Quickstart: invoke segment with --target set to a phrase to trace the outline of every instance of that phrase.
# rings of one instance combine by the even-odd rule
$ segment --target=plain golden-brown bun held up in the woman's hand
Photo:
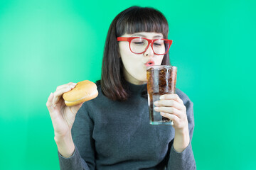
[[[78,82],[74,89],[63,94],[66,106],[75,106],[97,97],[98,91],[95,83],[89,80]]]

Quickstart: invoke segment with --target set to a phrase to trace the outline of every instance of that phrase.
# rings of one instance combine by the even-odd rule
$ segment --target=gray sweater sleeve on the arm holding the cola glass
[[[180,98],[183,100],[184,105],[186,106],[186,114],[188,118],[188,130],[189,130],[189,137],[190,142],[188,147],[183,150],[183,152],[177,152],[174,149],[174,141],[172,140],[171,144],[171,152],[169,154],[169,162],[167,165],[168,170],[194,170],[196,169],[196,161],[193,156],[193,150],[191,146],[191,141],[193,137],[193,129],[194,129],[194,116],[193,116],[193,102],[190,101],[186,94],[181,92]]]

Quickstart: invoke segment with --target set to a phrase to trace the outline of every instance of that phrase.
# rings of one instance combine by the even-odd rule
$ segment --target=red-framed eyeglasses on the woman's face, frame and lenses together
[[[149,48],[151,44],[152,50],[155,55],[165,55],[170,47],[172,40],[167,39],[147,39],[142,37],[118,37],[117,41],[128,41],[129,42],[129,49],[131,52],[140,55]]]

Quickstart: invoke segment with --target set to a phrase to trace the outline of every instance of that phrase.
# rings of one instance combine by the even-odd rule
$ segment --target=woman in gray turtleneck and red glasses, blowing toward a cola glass
[[[176,94],[163,95],[155,103],[173,126],[149,125],[146,64],[170,65],[169,47],[161,49],[163,55],[155,44],[167,39],[168,31],[166,18],[156,9],[127,8],[107,33],[97,98],[65,106],[61,96],[74,83],[50,94],[46,106],[60,169],[196,169],[193,103],[186,94],[176,88]],[[147,45],[137,48],[142,42]]]

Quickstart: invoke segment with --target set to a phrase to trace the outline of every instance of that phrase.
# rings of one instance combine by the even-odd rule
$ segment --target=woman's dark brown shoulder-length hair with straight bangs
[[[155,8],[132,6],[119,13],[110,25],[102,61],[102,93],[113,101],[126,101],[129,88],[123,76],[123,63],[119,54],[117,37],[138,32],[162,33],[167,39],[169,26],[164,15]],[[170,65],[169,53],[161,65]],[[142,93],[146,97],[146,91]]]

